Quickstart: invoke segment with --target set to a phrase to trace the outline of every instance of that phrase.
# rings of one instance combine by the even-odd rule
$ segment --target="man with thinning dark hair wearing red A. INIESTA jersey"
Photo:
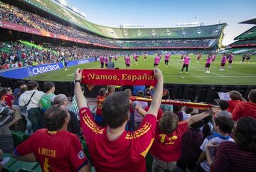
[[[43,122],[46,129],[38,129],[16,147],[12,156],[21,161],[38,161],[43,171],[90,171],[78,136],[67,130],[70,114],[57,104],[46,110]]]

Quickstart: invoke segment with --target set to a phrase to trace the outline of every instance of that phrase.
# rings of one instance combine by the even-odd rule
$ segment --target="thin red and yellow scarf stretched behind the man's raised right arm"
[[[130,97],[130,100],[132,101],[143,101],[143,102],[151,102],[152,99],[144,98],[144,97],[136,97],[132,96]],[[161,104],[172,104],[177,106],[183,106],[183,107],[193,107],[196,109],[207,109],[209,107],[213,107],[212,104],[203,104],[203,103],[194,103],[194,102],[181,102],[178,100],[161,100]]]

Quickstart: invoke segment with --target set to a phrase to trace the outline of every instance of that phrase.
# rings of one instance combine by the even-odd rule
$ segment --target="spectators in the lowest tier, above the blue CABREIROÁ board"
[[[114,52],[114,53],[113,53]],[[197,53],[196,50],[169,50],[171,54]],[[0,69],[19,68],[28,65],[58,63],[62,60],[78,60],[116,55],[153,55],[163,50],[107,50],[97,48],[68,47],[63,45],[26,45],[21,41],[0,41]]]

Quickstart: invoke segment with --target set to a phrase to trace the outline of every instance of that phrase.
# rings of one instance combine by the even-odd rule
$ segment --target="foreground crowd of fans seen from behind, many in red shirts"
[[[210,109],[180,107],[161,104],[170,92],[164,89],[161,70],[154,75],[154,88],[102,87],[96,111],[87,102],[79,70],[72,102],[54,94],[53,82],[45,82],[42,92],[36,81],[17,81],[14,92],[1,92],[0,113],[12,110],[14,117],[0,123],[0,149],[22,161],[38,161],[41,168],[47,158],[55,171],[89,171],[90,163],[96,171],[145,171],[146,154],[154,158],[151,171],[256,171],[255,89],[248,102],[231,91],[230,100],[216,100]],[[132,102],[132,95],[152,101]],[[14,149],[10,128],[31,136]]]

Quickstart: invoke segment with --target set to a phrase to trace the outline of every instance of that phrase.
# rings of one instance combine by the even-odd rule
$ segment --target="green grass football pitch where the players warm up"
[[[132,55],[131,55],[132,56]],[[185,69],[183,74],[180,74],[183,65],[181,55],[171,55],[169,67],[164,65],[164,58],[161,59],[159,69],[163,71],[164,82],[172,84],[196,84],[196,85],[256,85],[256,56],[252,55],[249,63],[240,63],[241,55],[235,55],[232,68],[227,68],[225,65],[224,71],[219,71],[221,55],[217,55],[215,62],[210,65],[210,74],[205,74],[206,55],[203,55],[200,63],[196,63],[197,55],[189,55],[191,64],[188,68],[188,74]],[[131,69],[153,69],[155,55],[148,55],[146,61],[144,56],[140,55],[138,64],[135,65],[132,59]],[[132,58],[132,57],[131,57]],[[119,57],[114,61],[117,68],[125,69],[124,58]],[[33,77],[27,77],[28,80],[43,80],[43,81],[73,81],[76,68],[100,68],[100,62],[85,63],[68,68],[67,75],[63,69],[53,72],[46,72]]]

